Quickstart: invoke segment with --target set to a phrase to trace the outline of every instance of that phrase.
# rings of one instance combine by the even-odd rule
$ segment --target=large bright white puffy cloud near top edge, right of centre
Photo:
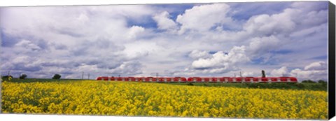
[[[231,22],[227,17],[230,6],[225,3],[214,3],[209,5],[194,6],[185,11],[183,15],[178,15],[176,22],[181,24],[180,34],[185,31],[208,31],[216,24]]]

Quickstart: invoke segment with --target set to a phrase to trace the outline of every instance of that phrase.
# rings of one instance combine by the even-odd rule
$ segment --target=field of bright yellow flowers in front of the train
[[[2,83],[3,113],[327,119],[323,91],[97,80]]]

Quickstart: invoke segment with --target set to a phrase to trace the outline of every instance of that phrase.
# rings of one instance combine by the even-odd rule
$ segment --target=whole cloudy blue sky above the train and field
[[[1,75],[328,80],[328,1],[1,7]]]

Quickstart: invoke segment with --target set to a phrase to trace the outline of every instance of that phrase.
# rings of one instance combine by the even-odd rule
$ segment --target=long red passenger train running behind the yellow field
[[[158,82],[158,83],[297,83],[294,77],[107,77],[99,76],[97,80]]]

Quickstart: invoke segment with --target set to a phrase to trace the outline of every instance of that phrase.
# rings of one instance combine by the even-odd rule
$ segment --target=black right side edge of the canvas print
[[[335,117],[335,5],[328,3],[328,119]]]

